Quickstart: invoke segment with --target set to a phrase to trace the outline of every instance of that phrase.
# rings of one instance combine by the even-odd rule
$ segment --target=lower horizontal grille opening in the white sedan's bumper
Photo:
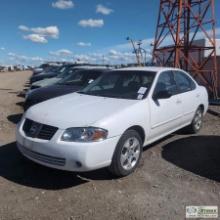
[[[20,151],[26,155],[27,157],[33,158],[35,160],[38,160],[43,163],[55,165],[55,166],[65,166],[66,160],[64,158],[60,157],[52,157],[49,155],[37,153],[35,151],[29,150],[26,147],[20,146],[19,145]]]

